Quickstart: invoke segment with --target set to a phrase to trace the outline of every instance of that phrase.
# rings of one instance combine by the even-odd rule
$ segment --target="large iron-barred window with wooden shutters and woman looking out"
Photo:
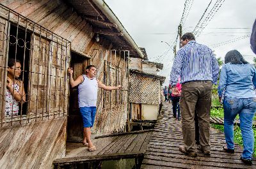
[[[67,115],[70,41],[15,11],[0,10],[1,126]]]

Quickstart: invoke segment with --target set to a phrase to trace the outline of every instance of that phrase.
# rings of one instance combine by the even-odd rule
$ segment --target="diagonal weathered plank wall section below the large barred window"
[[[0,129],[0,168],[52,168],[65,156],[67,117]]]

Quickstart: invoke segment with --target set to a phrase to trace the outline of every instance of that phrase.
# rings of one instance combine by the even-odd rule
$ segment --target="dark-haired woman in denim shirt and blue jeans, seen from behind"
[[[224,96],[224,133],[227,145],[225,152],[234,153],[234,120],[239,115],[243,137],[243,154],[241,160],[252,165],[253,154],[253,117],[256,111],[256,70],[252,64],[244,61],[237,50],[225,55],[225,64],[221,68],[218,94]]]

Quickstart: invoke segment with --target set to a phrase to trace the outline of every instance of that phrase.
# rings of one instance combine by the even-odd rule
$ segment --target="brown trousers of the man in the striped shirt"
[[[186,82],[182,85],[180,113],[184,147],[188,152],[196,152],[195,110],[198,114],[200,145],[204,151],[210,151],[211,95],[211,81]]]

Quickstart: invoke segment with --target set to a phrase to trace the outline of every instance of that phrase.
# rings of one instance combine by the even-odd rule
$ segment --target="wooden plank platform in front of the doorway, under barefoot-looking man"
[[[82,143],[67,143],[65,158],[56,159],[56,168],[65,168],[70,164],[104,161],[121,158],[143,158],[153,130],[133,131],[95,137],[93,143],[96,151],[89,152]]]

